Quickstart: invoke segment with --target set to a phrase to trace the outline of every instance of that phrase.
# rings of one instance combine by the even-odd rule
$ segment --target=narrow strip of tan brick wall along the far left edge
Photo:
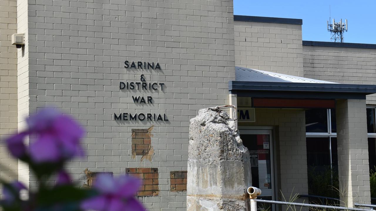
[[[11,35],[17,33],[16,3],[0,1],[0,140],[17,132],[17,48],[11,43]],[[17,179],[17,160],[12,159],[3,142],[0,170],[2,180]]]

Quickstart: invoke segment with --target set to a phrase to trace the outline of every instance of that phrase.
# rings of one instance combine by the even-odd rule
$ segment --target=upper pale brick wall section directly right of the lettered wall
[[[303,77],[302,26],[235,21],[235,65]]]

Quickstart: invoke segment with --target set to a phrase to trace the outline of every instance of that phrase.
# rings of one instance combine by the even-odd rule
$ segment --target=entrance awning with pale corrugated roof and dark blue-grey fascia
[[[375,85],[340,84],[311,78],[235,67],[229,91],[239,97],[299,99],[365,99]]]

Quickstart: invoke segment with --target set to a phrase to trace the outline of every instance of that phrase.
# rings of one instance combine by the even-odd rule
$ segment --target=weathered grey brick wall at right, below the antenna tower
[[[303,46],[304,77],[346,84],[376,84],[376,49]],[[376,95],[367,96],[376,104]]]

